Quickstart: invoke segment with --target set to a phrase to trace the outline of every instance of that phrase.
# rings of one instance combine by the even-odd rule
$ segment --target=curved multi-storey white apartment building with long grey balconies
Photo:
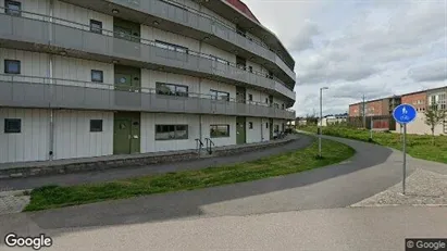
[[[0,0],[0,163],[273,140],[295,62],[232,0]]]

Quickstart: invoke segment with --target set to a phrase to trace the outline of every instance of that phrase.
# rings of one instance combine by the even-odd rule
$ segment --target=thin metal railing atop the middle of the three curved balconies
[[[0,10],[4,11],[7,9],[0,8]],[[8,14],[4,14],[4,13],[1,13],[1,14],[2,15],[8,15]],[[286,97],[291,98],[291,99],[295,100],[295,91],[290,90],[289,87],[287,87],[287,85],[285,85],[278,78],[269,75],[269,73],[250,70],[247,66],[237,65],[236,63],[225,61],[225,60],[220,59],[219,57],[215,57],[215,55],[212,55],[212,54],[207,54],[207,53],[189,50],[187,48],[166,47],[165,45],[157,42],[154,40],[144,39],[144,38],[132,36],[132,35],[123,36],[123,34],[117,33],[117,32],[108,30],[108,29],[98,29],[96,27],[91,28],[89,25],[85,25],[85,24],[80,24],[80,23],[76,23],[76,22],[72,22],[72,21],[67,21],[67,20],[62,20],[62,18],[59,18],[59,17],[42,15],[42,14],[38,14],[38,13],[20,11],[20,15],[23,18],[38,20],[38,21],[41,21],[41,22],[58,24],[58,25],[61,25],[61,26],[66,26],[66,27],[71,27],[71,28],[75,28],[75,29],[79,29],[79,30],[84,30],[84,32],[88,32],[88,33],[99,34],[99,35],[108,36],[108,37],[113,37],[113,38],[116,38],[116,39],[138,42],[140,45],[150,46],[150,47],[158,48],[158,49],[161,49],[161,50],[172,51],[172,52],[175,52],[175,53],[181,53],[181,54],[184,54],[184,57],[186,57],[186,55],[198,57],[200,59],[211,61],[213,64],[216,64],[216,67],[220,68],[220,70],[225,70],[225,68],[229,67],[231,72],[244,71],[244,72],[248,73],[249,75],[272,79],[275,83],[277,83],[277,84],[280,84],[284,87],[284,88],[282,88],[284,91],[281,91],[280,93],[283,93]],[[225,75],[225,73],[224,73],[224,75]],[[250,83],[248,83],[248,84],[250,84]],[[291,91],[294,93],[293,97],[290,97],[290,95],[286,95],[285,91]]]

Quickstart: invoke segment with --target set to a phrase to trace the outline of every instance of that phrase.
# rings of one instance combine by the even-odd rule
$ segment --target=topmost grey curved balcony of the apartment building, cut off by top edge
[[[291,88],[295,86],[296,74],[293,70],[295,63],[285,63],[286,60],[270,50],[265,45],[258,42],[257,39],[241,36],[233,27],[187,5],[177,2],[171,3],[172,1],[169,0],[63,1],[107,14],[110,14],[112,9],[120,9],[119,16],[122,18],[149,26],[153,26],[153,22],[157,21],[157,28],[167,32],[176,30],[178,34],[198,40],[208,37],[207,43],[232,52],[237,50],[239,55],[247,59],[253,57],[254,62],[265,64],[284,83],[290,85]]]

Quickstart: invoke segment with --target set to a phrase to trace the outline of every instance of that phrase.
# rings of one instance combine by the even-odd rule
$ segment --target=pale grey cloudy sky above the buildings
[[[447,0],[244,0],[295,59],[297,116],[447,86]]]

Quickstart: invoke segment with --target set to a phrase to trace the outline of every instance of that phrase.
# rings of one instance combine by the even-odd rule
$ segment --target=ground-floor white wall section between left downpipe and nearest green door
[[[102,131],[90,131],[102,120]],[[113,154],[113,112],[60,110],[54,113],[54,159]]]

